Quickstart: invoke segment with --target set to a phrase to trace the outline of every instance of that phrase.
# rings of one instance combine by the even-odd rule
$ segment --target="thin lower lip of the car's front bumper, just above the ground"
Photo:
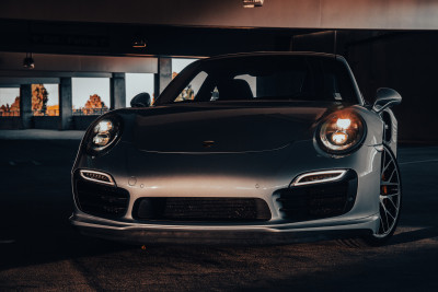
[[[187,226],[128,223],[73,214],[70,222],[83,235],[130,244],[270,245],[368,235],[379,224],[379,217],[337,222]]]

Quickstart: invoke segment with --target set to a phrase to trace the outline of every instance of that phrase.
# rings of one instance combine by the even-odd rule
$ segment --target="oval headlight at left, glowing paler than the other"
[[[87,152],[91,155],[106,153],[120,137],[120,130],[122,119],[116,115],[97,119],[87,132]]]

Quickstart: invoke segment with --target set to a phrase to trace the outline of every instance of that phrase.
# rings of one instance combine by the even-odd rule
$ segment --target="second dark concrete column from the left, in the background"
[[[59,83],[59,130],[73,128],[71,78],[61,78]]]

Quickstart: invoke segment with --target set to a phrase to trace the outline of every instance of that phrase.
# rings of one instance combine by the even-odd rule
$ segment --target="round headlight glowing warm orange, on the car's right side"
[[[353,151],[365,139],[365,121],[350,110],[330,115],[319,127],[316,140],[328,153],[343,154]]]

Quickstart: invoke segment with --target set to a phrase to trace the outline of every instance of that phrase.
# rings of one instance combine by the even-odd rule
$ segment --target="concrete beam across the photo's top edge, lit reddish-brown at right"
[[[0,19],[214,27],[438,30],[434,0],[2,0]]]

